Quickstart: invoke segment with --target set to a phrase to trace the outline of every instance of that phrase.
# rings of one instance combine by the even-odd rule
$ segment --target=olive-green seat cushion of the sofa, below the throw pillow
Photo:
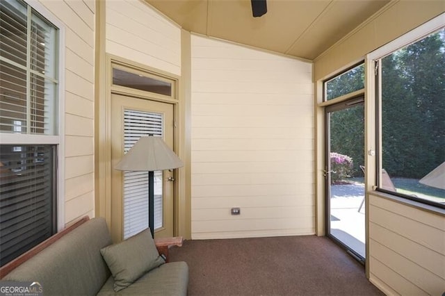
[[[154,268],[143,277],[132,283],[128,288],[114,291],[114,279],[110,277],[97,294],[106,295],[187,295],[188,265],[185,262],[165,263]]]

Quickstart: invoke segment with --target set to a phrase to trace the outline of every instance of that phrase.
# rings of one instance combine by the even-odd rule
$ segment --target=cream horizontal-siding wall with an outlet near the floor
[[[312,65],[197,35],[191,56],[192,238],[314,233]]]

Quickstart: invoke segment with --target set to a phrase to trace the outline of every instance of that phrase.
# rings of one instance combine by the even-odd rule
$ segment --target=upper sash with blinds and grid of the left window
[[[57,35],[26,3],[0,1],[1,133],[56,135]]]

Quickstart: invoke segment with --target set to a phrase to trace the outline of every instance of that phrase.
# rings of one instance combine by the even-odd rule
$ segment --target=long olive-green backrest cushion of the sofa
[[[38,281],[44,295],[96,295],[111,273],[100,249],[111,244],[104,218],[94,218],[19,265],[2,281]]]

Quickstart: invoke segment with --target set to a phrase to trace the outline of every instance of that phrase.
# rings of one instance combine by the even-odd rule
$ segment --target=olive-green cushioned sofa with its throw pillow
[[[43,295],[187,294],[187,264],[165,263],[149,229],[113,245],[96,217],[56,236],[3,269],[1,281],[38,282]]]

